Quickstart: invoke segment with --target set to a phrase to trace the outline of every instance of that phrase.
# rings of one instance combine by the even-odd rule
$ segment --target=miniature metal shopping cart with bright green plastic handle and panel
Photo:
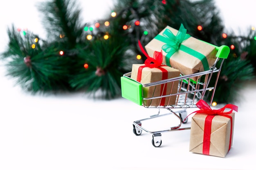
[[[196,102],[200,99],[204,99],[204,96],[207,91],[210,91],[210,101],[209,105],[212,104],[213,102],[213,96],[214,92],[216,90],[216,85],[218,82],[218,78],[220,76],[220,70],[222,68],[222,64],[225,59],[227,59],[230,49],[228,46],[215,46],[217,49],[217,54],[216,54],[216,61],[214,65],[210,68],[210,70],[203,71],[203,72],[198,72],[190,75],[180,75],[179,77],[175,78],[170,78],[162,81],[157,81],[153,83],[147,83],[147,84],[142,84],[139,83],[138,81],[135,81],[130,78],[131,72],[128,72],[124,74],[121,77],[121,93],[122,97],[137,103],[138,105],[142,105],[146,108],[158,108],[159,111],[157,114],[152,115],[148,118],[141,119],[141,120],[136,120],[133,122],[133,133],[135,135],[140,135],[142,131],[146,131],[147,133],[152,134],[153,139],[152,139],[152,144],[155,147],[159,147],[162,144],[162,134],[165,132],[169,131],[178,131],[178,130],[185,130],[185,129],[190,129],[191,127],[181,127],[182,123],[186,123],[188,119],[185,119],[187,116],[187,108],[196,108],[197,106],[195,105]],[[216,68],[218,63],[218,68]],[[214,75],[214,76],[213,76]],[[216,80],[211,80],[211,78],[216,78]],[[196,81],[194,81],[196,78]],[[209,87],[210,81],[213,82],[213,87]],[[177,93],[171,92],[170,94],[164,94],[164,95],[155,95],[150,97],[144,97],[143,94],[143,89],[147,87],[153,87],[156,88],[159,85],[173,85],[175,82],[178,82],[178,89]],[[172,87],[171,87],[172,88]],[[166,105],[162,106],[159,105],[146,105],[146,101],[150,100],[153,101],[153,99],[157,98],[170,98],[171,96],[176,96],[175,104],[173,105]],[[160,114],[160,109],[167,109],[168,113]],[[175,110],[175,111],[174,111]],[[177,111],[176,111],[177,110]],[[172,126],[168,129],[160,130],[160,131],[149,131],[145,127],[142,126],[142,122],[145,120],[150,120],[162,116],[168,116],[168,115],[174,115],[178,120],[178,124],[175,126]]]

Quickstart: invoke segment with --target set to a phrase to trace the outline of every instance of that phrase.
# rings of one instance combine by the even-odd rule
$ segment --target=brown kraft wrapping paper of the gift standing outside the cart
[[[229,114],[233,119],[233,133],[231,137],[231,146],[234,134],[235,113]],[[189,151],[193,153],[203,153],[204,121],[207,114],[196,113],[191,120]],[[231,120],[225,116],[214,116],[211,124],[211,139],[209,155],[225,157],[229,151],[229,140],[231,133]]]

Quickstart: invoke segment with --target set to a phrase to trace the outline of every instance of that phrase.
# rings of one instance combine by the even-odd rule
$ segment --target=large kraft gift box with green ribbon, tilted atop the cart
[[[216,47],[186,34],[183,25],[179,31],[166,26],[145,48],[149,56],[162,49],[163,63],[184,75],[209,70],[216,61]]]

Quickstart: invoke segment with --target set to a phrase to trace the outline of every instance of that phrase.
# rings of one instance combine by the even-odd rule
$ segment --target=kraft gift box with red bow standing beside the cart
[[[189,151],[225,157],[233,143],[234,111],[238,107],[228,104],[225,107],[212,110],[204,100],[196,104],[200,110],[195,111],[191,120]],[[224,112],[225,109],[231,109]]]

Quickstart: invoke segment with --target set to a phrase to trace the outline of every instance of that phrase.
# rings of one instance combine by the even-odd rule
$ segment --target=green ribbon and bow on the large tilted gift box
[[[176,36],[169,29],[166,29],[163,35],[164,36],[157,35],[155,39],[166,43],[162,46],[162,50],[164,50],[164,52],[167,53],[165,57],[166,65],[171,67],[171,56],[178,50],[182,50],[192,55],[193,57],[200,59],[204,67],[204,70],[209,70],[207,58],[203,54],[181,44],[183,41],[191,37],[189,34],[186,33],[186,29],[184,28],[183,24],[181,24],[180,29]]]

